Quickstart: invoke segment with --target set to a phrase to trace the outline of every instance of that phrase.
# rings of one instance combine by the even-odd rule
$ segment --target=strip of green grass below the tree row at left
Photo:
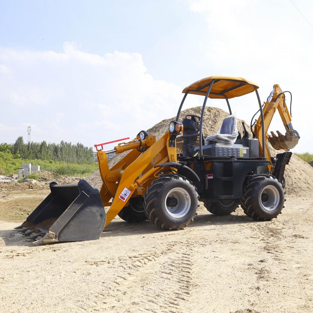
[[[54,172],[59,175],[85,177],[98,169],[98,163],[95,164],[71,164],[52,160],[27,160],[14,159],[11,154],[0,152],[0,168],[3,175],[17,174],[21,163],[32,163],[32,165],[40,165],[40,170]],[[33,177],[29,177],[33,178]],[[37,178],[34,178],[37,179]]]

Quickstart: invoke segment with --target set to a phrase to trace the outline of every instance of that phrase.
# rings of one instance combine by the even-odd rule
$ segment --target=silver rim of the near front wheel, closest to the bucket
[[[173,188],[167,193],[164,205],[170,216],[174,218],[184,217],[191,207],[190,195],[184,188]]]

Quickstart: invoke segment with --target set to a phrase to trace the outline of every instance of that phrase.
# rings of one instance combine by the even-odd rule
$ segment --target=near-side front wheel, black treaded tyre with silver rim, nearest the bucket
[[[149,220],[161,229],[180,229],[193,222],[199,207],[197,189],[180,175],[162,175],[144,196]]]

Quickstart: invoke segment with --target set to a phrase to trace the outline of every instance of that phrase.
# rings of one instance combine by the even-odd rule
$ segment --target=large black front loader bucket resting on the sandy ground
[[[99,239],[106,215],[98,189],[85,180],[50,183],[51,193],[17,229],[36,243]]]

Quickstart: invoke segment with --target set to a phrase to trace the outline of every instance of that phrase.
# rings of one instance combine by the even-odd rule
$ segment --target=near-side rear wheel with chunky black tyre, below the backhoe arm
[[[247,182],[241,207],[256,221],[270,221],[281,213],[284,202],[285,192],[281,183],[275,177],[260,175]]]

